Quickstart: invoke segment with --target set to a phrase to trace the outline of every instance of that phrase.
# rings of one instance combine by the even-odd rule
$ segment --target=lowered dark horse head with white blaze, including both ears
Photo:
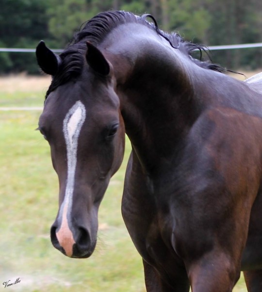
[[[89,42],[86,54],[78,56],[83,63],[78,74],[66,56],[55,55],[43,41],[36,56],[40,68],[53,75],[39,119],[60,185],[51,241],[66,256],[84,258],[95,249],[98,207],[124,155],[125,130],[114,73]]]

